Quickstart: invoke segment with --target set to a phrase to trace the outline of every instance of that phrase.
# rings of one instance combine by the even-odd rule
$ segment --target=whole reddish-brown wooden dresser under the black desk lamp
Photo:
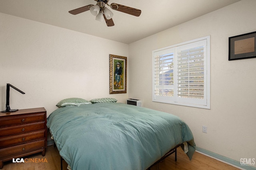
[[[0,113],[0,169],[4,161],[42,152],[47,146],[44,107]]]

